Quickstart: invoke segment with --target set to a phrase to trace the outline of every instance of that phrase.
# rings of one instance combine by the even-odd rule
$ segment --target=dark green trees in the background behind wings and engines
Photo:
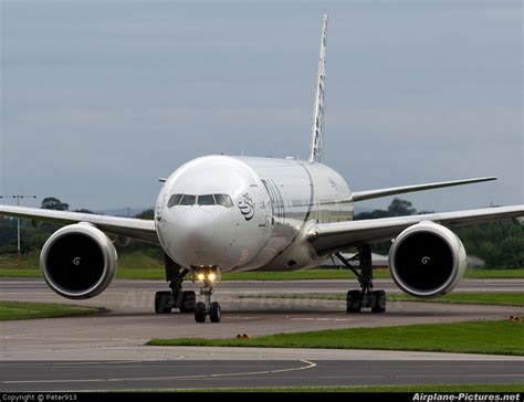
[[[42,200],[41,208],[49,210],[69,211],[70,205],[56,198],[50,197]],[[90,210],[80,209],[74,212],[92,213]],[[355,215],[355,220],[378,219],[389,216],[413,215],[431,211],[417,211],[411,202],[394,199],[386,210],[374,210]],[[145,210],[135,218],[151,220],[153,210]],[[36,223],[21,221],[21,250],[22,253],[40,250],[48,237],[59,229],[51,223]],[[515,220],[502,220],[492,223],[472,224],[452,229],[462,240],[468,255],[482,258],[488,267],[524,267],[524,225]],[[387,254],[390,242],[374,245],[374,251]],[[132,241],[126,247],[117,245],[119,253],[143,252],[148,255],[161,257],[159,246]],[[17,253],[17,220],[0,219],[0,254]]]

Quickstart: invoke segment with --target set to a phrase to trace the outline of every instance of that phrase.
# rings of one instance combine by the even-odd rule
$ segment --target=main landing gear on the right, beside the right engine
[[[371,313],[386,311],[386,292],[373,289],[373,266],[371,266],[371,246],[363,244],[358,247],[358,254],[349,260],[335,253],[344,265],[346,265],[358,278],[360,290],[349,290],[346,299],[347,313],[360,313],[363,308],[370,308]],[[358,260],[358,271],[349,262]]]

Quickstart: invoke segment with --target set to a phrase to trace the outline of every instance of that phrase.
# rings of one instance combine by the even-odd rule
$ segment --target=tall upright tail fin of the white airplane
[[[311,131],[308,162],[324,160],[324,91],[326,88],[326,45],[327,14],[322,21],[321,49],[318,52],[318,73],[316,77],[315,106],[313,108],[313,127]]]

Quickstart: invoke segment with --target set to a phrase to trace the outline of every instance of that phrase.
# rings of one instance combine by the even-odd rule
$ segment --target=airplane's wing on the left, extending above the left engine
[[[52,222],[57,224],[88,222],[107,234],[115,234],[158,244],[158,236],[155,230],[154,221],[10,205],[0,205],[0,216],[2,215]]]

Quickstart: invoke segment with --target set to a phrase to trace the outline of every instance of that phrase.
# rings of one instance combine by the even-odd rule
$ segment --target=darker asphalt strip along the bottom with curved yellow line
[[[0,364],[3,391],[518,383],[522,361],[25,361]],[[248,385],[249,384],[249,385]]]

